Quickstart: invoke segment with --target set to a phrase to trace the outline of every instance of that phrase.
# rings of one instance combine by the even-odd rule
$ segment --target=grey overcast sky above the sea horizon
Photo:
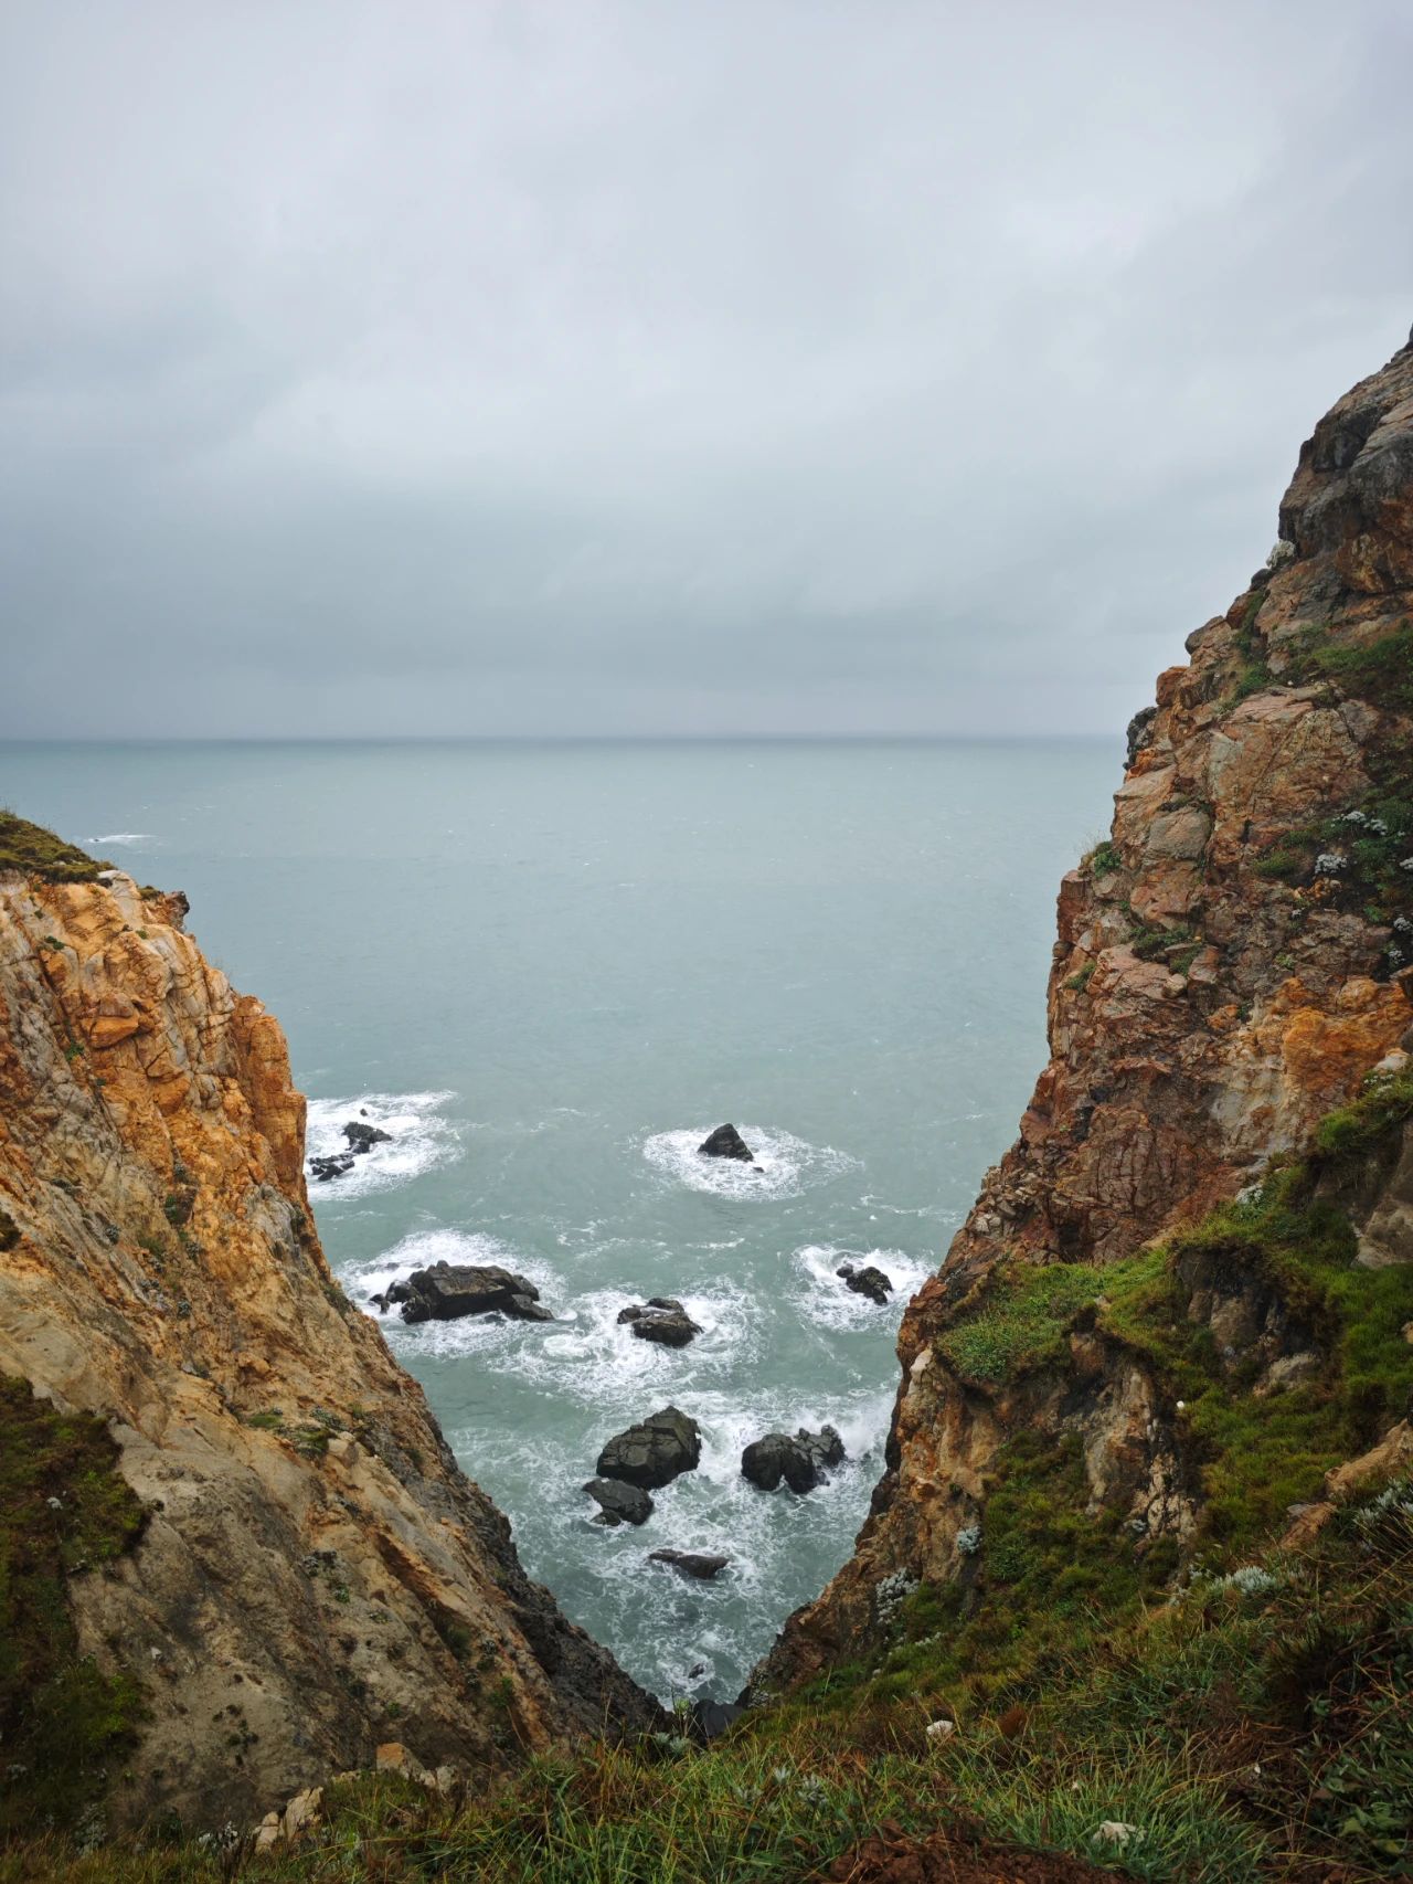
[[[1405,0],[0,19],[0,737],[1113,733],[1413,320]]]

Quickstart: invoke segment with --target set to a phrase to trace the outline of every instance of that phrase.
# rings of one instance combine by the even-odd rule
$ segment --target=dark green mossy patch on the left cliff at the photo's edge
[[[100,1421],[0,1375],[0,1837],[72,1824],[141,1718],[136,1682],[79,1656],[66,1588],[141,1534],[115,1460]]]

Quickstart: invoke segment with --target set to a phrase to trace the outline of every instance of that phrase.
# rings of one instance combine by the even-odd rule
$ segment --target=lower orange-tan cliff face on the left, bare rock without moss
[[[0,869],[0,1375],[107,1422],[147,1513],[68,1575],[138,1694],[111,1811],[243,1822],[384,1739],[494,1771],[656,1720],[343,1298],[281,1029],[183,914]],[[60,1541],[79,1503],[47,1502]]]

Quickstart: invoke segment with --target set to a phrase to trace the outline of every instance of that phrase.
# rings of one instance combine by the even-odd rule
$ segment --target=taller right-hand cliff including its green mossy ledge
[[[1347,1272],[1413,1255],[1413,347],[1321,420],[1279,537],[1130,727],[1112,838],[1061,885],[1049,1064],[904,1319],[855,1556],[757,1692],[855,1656],[899,1590],[959,1584],[953,1622],[1014,1594],[987,1513],[1042,1466],[1157,1584],[1242,1534],[1234,1434],[1304,1421],[1287,1449],[1319,1486],[1404,1411],[1413,1304],[1372,1281],[1375,1313]],[[1373,1098],[1330,1121],[1373,1068]],[[1355,1366],[1360,1315],[1387,1341]]]

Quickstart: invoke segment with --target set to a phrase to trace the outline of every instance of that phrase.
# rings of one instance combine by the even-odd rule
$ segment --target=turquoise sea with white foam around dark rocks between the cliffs
[[[384,1330],[531,1573],[673,1697],[735,1694],[850,1551],[902,1298],[1014,1138],[1055,889],[1117,771],[1091,742],[8,746],[0,801],[187,889],[288,1031],[311,1151],[360,1108],[394,1134],[313,1187],[354,1300],[441,1255],[539,1283],[554,1324]],[[723,1119],[763,1176],[695,1157]],[[646,1294],[703,1336],[635,1341]],[[599,1445],[669,1402],[701,1470],[590,1524]],[[829,1486],[739,1477],[821,1421]],[[733,1564],[688,1584],[661,1545]]]

